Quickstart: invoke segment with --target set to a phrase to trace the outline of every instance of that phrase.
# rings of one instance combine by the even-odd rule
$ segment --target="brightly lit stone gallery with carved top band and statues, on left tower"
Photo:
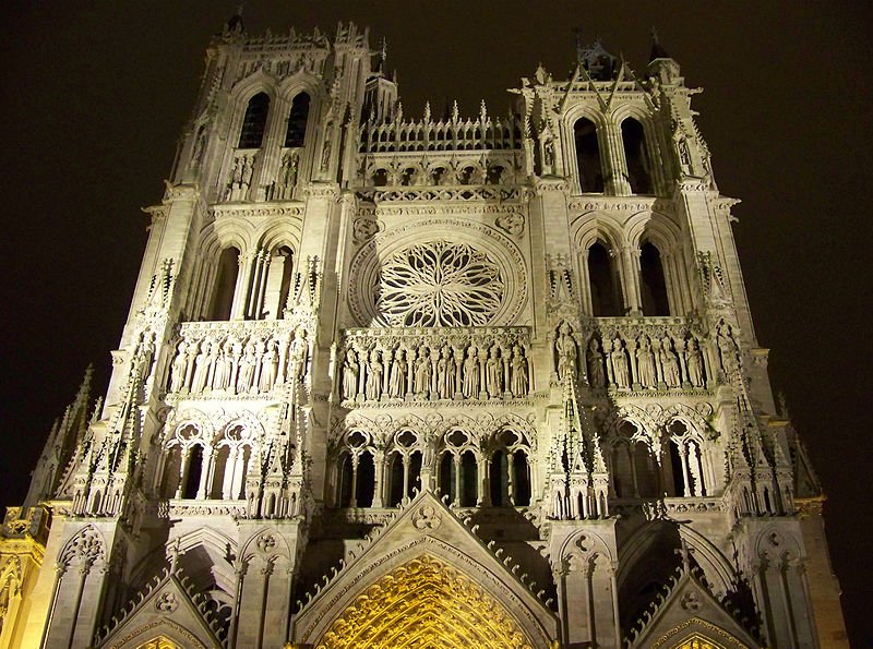
[[[309,341],[284,320],[188,322],[179,327],[170,364],[169,394],[265,395],[299,381]]]

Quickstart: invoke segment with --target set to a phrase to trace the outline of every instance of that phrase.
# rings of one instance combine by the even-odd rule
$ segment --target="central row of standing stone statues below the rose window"
[[[529,372],[518,342],[352,346],[343,357],[342,396],[348,401],[522,398],[530,389]]]

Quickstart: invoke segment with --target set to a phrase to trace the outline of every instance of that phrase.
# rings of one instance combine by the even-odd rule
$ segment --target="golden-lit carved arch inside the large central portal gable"
[[[504,608],[435,558],[414,558],[334,620],[318,649],[533,649]]]

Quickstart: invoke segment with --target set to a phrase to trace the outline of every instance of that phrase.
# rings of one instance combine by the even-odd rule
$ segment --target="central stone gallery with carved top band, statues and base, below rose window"
[[[528,327],[346,329],[339,394],[348,405],[527,398]]]

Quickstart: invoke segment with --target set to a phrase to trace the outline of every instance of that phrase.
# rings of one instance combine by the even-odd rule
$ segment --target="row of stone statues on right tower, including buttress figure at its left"
[[[736,347],[734,347],[736,348]],[[560,380],[575,380],[579,366],[577,341],[566,323],[559,327],[554,340],[555,366]],[[588,341],[585,375],[591,387],[623,389],[665,389],[703,387],[707,368],[699,341],[694,336],[636,336],[615,334],[602,342]]]

